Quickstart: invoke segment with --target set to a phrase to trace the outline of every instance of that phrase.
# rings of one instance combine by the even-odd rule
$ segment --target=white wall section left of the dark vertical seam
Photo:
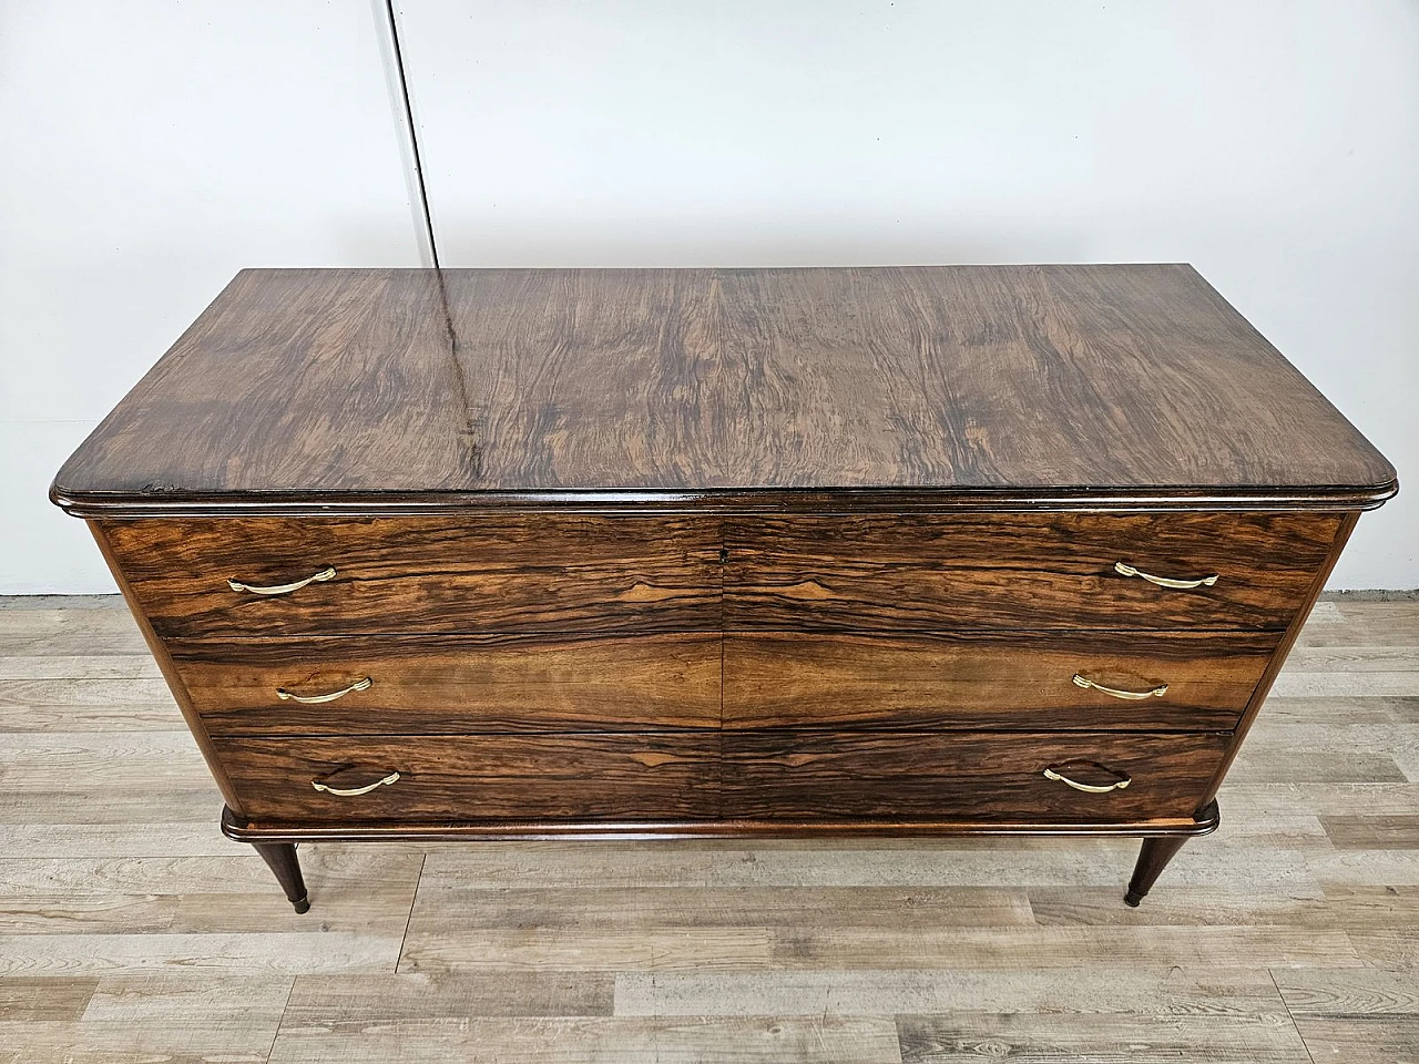
[[[114,590],[45,498],[247,265],[419,265],[368,3],[0,4],[0,593]]]

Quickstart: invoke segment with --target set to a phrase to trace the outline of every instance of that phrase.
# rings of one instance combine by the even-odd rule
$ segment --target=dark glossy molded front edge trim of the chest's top
[[[1121,488],[1081,491],[535,491],[535,492],[341,492],[304,494],[125,494],[71,492],[58,481],[50,501],[79,518],[219,518],[219,516],[423,516],[468,509],[566,509],[572,512],[678,512],[697,509],[793,514],[858,514],[863,511],[1087,511],[1124,514],[1174,509],[1375,509],[1399,491],[1399,481],[1372,487],[1297,487],[1284,489],[1145,491]]]

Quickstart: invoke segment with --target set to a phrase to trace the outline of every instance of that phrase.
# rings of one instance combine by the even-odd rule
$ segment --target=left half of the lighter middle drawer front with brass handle
[[[719,726],[714,634],[175,640],[167,648],[213,735]]]

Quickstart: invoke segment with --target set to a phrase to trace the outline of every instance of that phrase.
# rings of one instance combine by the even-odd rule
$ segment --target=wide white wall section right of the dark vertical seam
[[[1412,0],[410,0],[444,265],[1189,261],[1419,470]],[[1337,587],[1419,586],[1419,482]]]

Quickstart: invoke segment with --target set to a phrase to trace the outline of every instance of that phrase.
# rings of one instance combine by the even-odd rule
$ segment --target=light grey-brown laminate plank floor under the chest
[[[0,600],[0,1063],[1419,1061],[1419,602],[1325,600],[1142,908],[1137,843],[301,847],[115,600]]]

